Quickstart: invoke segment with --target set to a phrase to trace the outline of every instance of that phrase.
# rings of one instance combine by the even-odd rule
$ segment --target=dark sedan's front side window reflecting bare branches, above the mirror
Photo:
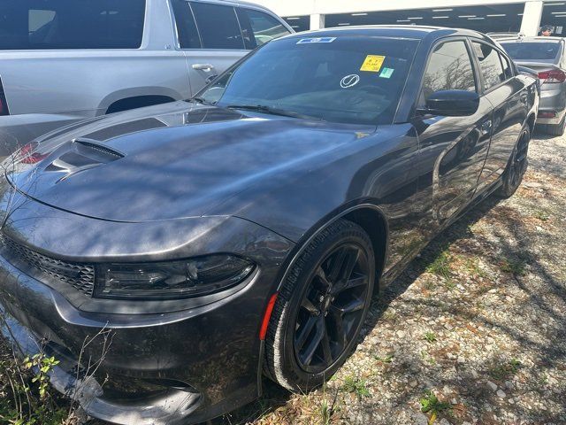
[[[463,41],[443,42],[432,51],[424,73],[421,104],[440,90],[476,91],[470,53]]]

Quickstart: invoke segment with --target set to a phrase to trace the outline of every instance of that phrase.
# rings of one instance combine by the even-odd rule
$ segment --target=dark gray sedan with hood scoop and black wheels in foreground
[[[433,236],[515,192],[538,104],[476,32],[351,27],[47,135],[4,162],[4,336],[114,423],[204,421],[264,375],[310,390]]]

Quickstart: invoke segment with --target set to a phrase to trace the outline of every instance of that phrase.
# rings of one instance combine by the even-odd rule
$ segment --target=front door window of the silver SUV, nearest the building
[[[265,42],[289,34],[279,20],[264,12],[239,7],[238,19],[241,25],[241,34],[244,37],[247,49],[256,49]]]

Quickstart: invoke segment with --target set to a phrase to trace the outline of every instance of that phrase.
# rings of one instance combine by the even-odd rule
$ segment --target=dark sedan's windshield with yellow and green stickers
[[[290,37],[269,42],[197,97],[234,109],[340,123],[391,123],[417,40]]]

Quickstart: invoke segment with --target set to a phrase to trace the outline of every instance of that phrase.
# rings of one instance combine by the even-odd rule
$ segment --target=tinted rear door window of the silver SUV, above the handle
[[[244,50],[240,25],[232,6],[191,2],[204,49]]]

